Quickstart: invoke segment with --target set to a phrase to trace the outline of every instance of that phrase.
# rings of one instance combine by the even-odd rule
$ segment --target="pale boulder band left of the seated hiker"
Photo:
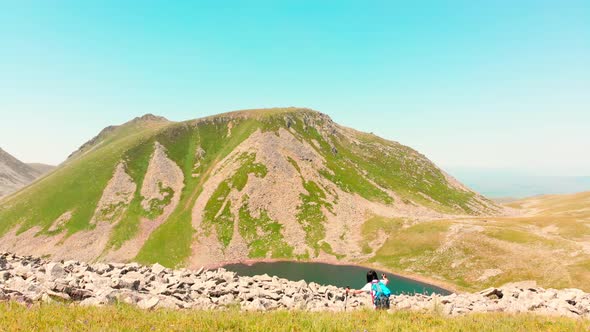
[[[79,305],[124,302],[142,309],[276,309],[343,311],[367,307],[344,289],[268,275],[238,277],[218,269],[170,270],[159,264],[49,262],[0,254],[0,301],[73,301]]]

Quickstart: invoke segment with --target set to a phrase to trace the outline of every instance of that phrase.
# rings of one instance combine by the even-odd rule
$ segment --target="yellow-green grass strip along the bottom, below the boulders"
[[[240,312],[0,303],[0,331],[587,331],[590,321],[533,315],[415,312]]]

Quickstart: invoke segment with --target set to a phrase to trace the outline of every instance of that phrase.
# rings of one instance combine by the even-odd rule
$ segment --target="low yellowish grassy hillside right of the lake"
[[[544,287],[590,291],[590,192],[509,205],[520,209],[516,216],[450,218],[406,227],[399,227],[399,220],[373,223],[389,236],[368,262],[466,290],[536,280]]]

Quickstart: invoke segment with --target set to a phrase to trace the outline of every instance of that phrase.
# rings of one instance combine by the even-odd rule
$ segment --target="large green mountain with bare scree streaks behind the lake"
[[[359,261],[386,239],[376,218],[502,211],[413,149],[309,109],[146,115],[103,130],[8,197],[0,250],[190,267]]]

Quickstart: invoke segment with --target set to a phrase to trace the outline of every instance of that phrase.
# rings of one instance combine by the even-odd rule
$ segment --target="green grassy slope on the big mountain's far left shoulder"
[[[67,211],[73,211],[72,218],[65,225],[68,234],[92,228],[90,219],[125,151],[165,126],[166,123],[121,126],[92,152],[69,160],[34,185],[3,200],[0,235],[17,224],[20,225],[19,233],[34,226],[47,231],[53,221]]]

